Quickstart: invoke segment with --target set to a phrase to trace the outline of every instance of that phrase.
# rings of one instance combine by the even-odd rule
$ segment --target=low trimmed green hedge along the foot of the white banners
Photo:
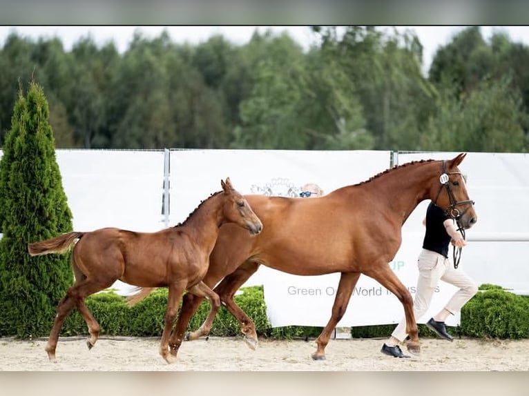
[[[266,315],[262,286],[241,289],[235,301],[256,324],[259,337],[274,339],[318,337],[321,327],[286,326],[271,328]],[[86,299],[86,304],[101,326],[102,335],[136,337],[160,337],[164,326],[167,304],[166,288],[159,288],[128,308],[126,299],[113,291],[98,293]],[[196,330],[209,312],[204,301],[191,318],[188,330]],[[52,321],[52,318],[50,318]],[[355,338],[389,337],[394,324],[383,326],[359,326],[351,330]],[[86,324],[77,310],[66,319],[61,335],[85,335]],[[465,337],[519,339],[529,338],[529,297],[514,295],[499,286],[484,284],[461,310],[461,326],[456,334]],[[213,322],[211,335],[234,337],[240,334],[240,326],[228,310],[221,306]],[[434,337],[430,329],[419,324],[419,337]]]

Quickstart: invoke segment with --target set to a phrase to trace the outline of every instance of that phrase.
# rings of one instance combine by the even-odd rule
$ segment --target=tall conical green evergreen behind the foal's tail
[[[32,81],[26,97],[19,90],[0,160],[0,336],[48,335],[73,283],[70,255],[30,257],[27,248],[73,228],[48,119]]]

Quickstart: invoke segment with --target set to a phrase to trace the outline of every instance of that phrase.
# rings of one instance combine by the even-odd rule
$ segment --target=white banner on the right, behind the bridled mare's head
[[[398,155],[398,164],[419,159],[452,159],[459,152]],[[495,284],[529,295],[529,155],[469,152],[461,166],[478,215],[466,232],[460,267],[478,285]],[[426,205],[426,204],[423,204]],[[403,227],[418,231],[424,210],[417,208]],[[452,250],[450,250],[450,253]]]

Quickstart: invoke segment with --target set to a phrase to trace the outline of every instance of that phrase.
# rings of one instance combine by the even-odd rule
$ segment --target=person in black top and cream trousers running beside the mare
[[[417,280],[416,295],[414,298],[415,319],[423,316],[430,306],[434,290],[439,284],[439,279],[459,288],[452,296],[445,308],[427,321],[426,326],[440,337],[453,341],[445,326],[445,319],[450,314],[459,312],[477,293],[477,285],[461,269],[454,268],[448,259],[448,246],[450,243],[456,247],[463,247],[467,243],[457,230],[455,222],[443,209],[430,203],[426,210],[424,221],[426,231],[423,241],[423,250],[419,255],[419,279]],[[393,331],[391,337],[383,344],[381,352],[393,357],[410,357],[404,355],[399,344],[407,337],[406,321],[403,319]]]

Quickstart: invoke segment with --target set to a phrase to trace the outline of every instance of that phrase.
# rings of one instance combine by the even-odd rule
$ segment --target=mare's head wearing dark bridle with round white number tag
[[[478,217],[474,201],[468,197],[465,177],[458,168],[465,156],[465,153],[461,153],[454,159],[442,161],[439,181],[432,187],[433,194],[430,194],[435,197],[434,204],[456,219],[460,227],[467,229],[476,224]]]

